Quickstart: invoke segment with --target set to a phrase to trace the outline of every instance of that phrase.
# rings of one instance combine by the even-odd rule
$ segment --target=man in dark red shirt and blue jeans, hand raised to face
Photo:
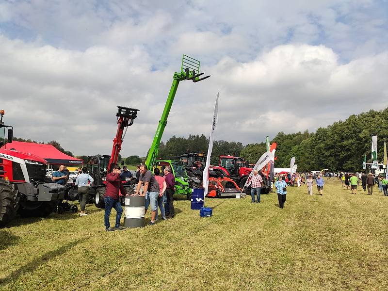
[[[121,207],[121,203],[118,199],[119,191],[121,193],[125,193],[123,184],[120,179],[120,166],[115,165],[113,167],[113,171],[106,175],[106,191],[105,191],[105,216],[104,216],[104,224],[106,231],[113,230],[124,230],[125,227],[120,226],[121,214],[123,213],[123,209]],[[120,195],[122,196],[122,194]],[[109,216],[111,215],[111,210],[114,208],[116,210],[116,224],[114,228],[110,228]]]

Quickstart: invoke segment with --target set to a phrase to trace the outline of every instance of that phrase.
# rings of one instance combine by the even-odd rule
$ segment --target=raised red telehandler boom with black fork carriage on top
[[[117,108],[118,111],[116,116],[118,126],[116,136],[113,139],[112,154],[108,163],[108,173],[112,172],[114,165],[117,164],[118,155],[121,150],[121,144],[123,142],[125,133],[127,132],[127,128],[133,124],[133,120],[136,118],[137,112],[139,111],[138,109],[122,106],[117,106]]]

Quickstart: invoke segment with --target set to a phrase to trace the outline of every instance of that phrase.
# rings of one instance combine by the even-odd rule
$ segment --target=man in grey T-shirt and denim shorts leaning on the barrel
[[[158,210],[158,196],[160,189],[154,174],[147,169],[146,165],[140,166],[139,182],[137,183],[135,195],[139,194],[142,184],[143,194],[146,194],[146,201],[149,199],[149,204],[151,205],[151,221],[148,225],[153,226],[155,224],[156,211]],[[146,210],[147,209],[148,205],[146,203]]]

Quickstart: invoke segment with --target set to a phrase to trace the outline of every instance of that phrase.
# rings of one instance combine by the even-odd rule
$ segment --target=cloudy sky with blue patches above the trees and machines
[[[14,135],[109,154],[116,106],[140,110],[123,156],[145,156],[182,54],[163,139],[264,141],[388,106],[388,1],[1,0],[0,107]]]

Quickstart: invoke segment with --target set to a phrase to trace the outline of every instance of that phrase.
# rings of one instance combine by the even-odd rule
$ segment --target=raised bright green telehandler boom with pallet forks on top
[[[158,158],[159,145],[162,140],[164,128],[167,125],[168,114],[170,113],[171,106],[174,102],[175,94],[177,93],[179,81],[192,80],[193,82],[198,82],[210,77],[210,76],[206,76],[203,78],[199,78],[199,76],[202,76],[204,74],[204,73],[199,73],[199,65],[200,65],[200,62],[198,60],[195,60],[191,57],[183,55],[182,65],[180,67],[180,73],[177,73],[177,72],[174,73],[173,83],[171,85],[171,89],[168,94],[166,104],[164,105],[162,117],[159,120],[158,128],[156,129],[156,133],[154,136],[154,140],[152,141],[151,148],[147,155],[146,166],[149,169],[151,168],[151,166],[155,165],[155,161]]]

